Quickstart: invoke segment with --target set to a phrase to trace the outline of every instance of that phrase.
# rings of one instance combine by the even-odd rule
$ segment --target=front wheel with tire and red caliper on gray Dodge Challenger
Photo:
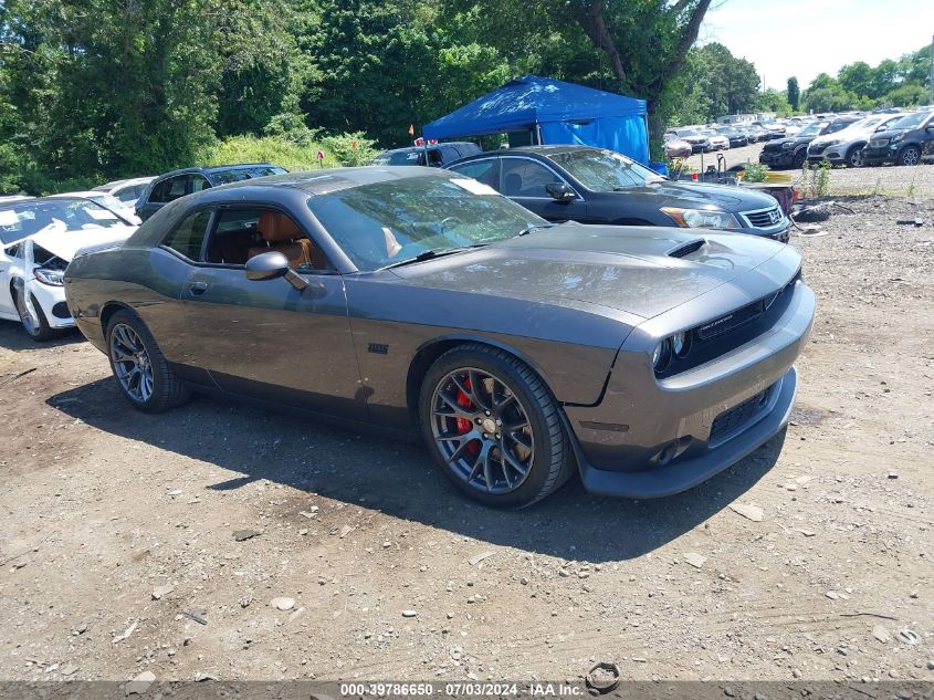
[[[419,422],[432,459],[460,491],[493,508],[532,505],[574,473],[559,410],[528,366],[474,343],[441,355],[419,394]]]

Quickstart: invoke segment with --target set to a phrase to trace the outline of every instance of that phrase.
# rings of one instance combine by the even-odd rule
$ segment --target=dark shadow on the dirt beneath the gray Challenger
[[[785,432],[684,493],[652,501],[588,494],[579,480],[532,508],[496,511],[460,495],[420,445],[361,435],[245,404],[196,396],[161,415],[129,410],[112,378],[46,404],[105,432],[143,441],[242,476],[209,485],[232,491],[265,479],[527,552],[568,560],[629,560],[703,523],[775,464]],[[307,509],[304,499],[293,504]]]

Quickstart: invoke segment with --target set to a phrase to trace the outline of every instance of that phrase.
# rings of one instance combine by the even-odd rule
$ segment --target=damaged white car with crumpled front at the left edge
[[[74,326],[62,273],[83,248],[123,241],[126,219],[83,198],[27,198],[0,205],[0,318],[34,341]]]

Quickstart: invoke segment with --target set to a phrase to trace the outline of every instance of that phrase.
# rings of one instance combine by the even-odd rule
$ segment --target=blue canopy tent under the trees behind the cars
[[[644,100],[523,75],[426,124],[426,138],[532,130],[539,144],[609,148],[649,163]]]

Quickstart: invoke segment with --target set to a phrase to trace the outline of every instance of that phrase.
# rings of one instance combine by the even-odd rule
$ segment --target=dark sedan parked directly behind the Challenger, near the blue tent
[[[722,229],[788,240],[790,221],[769,195],[675,182],[611,150],[531,146],[449,166],[549,221]]]

